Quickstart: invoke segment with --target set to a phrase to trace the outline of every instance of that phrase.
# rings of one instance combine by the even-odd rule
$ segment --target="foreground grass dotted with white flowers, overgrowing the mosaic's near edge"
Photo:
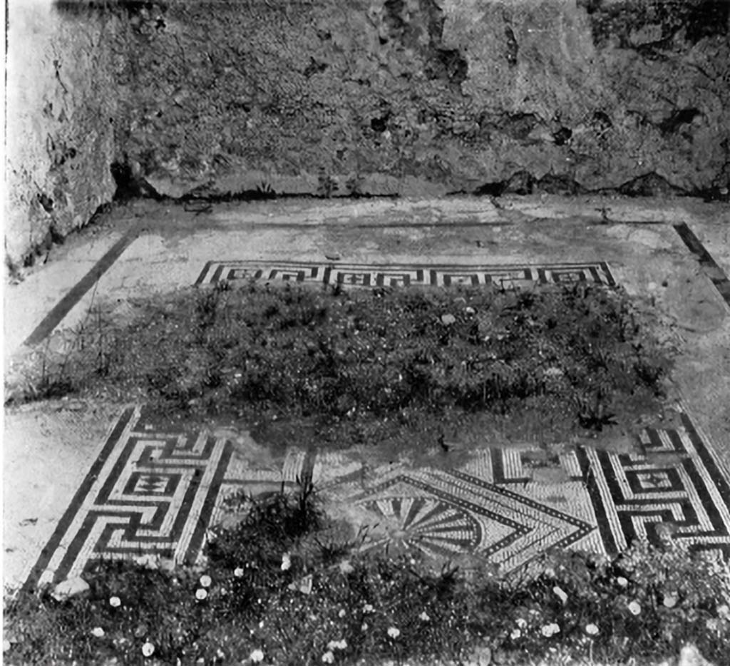
[[[204,567],[101,562],[91,589],[7,605],[7,664],[499,664],[569,654],[648,663],[685,642],[718,664],[730,641],[730,568],[668,543],[617,559],[546,554],[531,575],[429,570],[331,535],[311,488],[258,502],[222,529]],[[155,568],[158,567],[158,568]]]

